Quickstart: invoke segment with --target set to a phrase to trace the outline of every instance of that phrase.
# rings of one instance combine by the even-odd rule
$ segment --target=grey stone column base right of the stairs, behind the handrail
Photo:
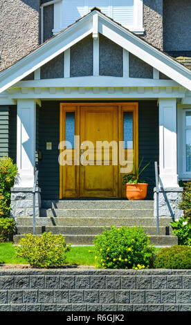
[[[183,216],[179,209],[183,187],[160,187],[158,189],[159,217],[169,217],[176,220]],[[156,187],[154,187],[154,216],[156,217]]]

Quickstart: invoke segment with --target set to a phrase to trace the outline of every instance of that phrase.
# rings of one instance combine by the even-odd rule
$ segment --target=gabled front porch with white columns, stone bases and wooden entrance
[[[8,128],[17,133],[17,145],[10,145],[19,171],[18,182],[12,189],[11,215],[16,221],[26,220],[27,225],[31,221],[36,168],[39,169],[36,193],[39,225],[42,225],[42,221],[49,222],[44,219],[46,211],[42,207],[47,210],[48,217],[53,218],[51,222],[55,223],[60,217],[62,222],[65,220],[65,210],[60,212],[51,205],[46,207],[47,200],[62,205],[64,201],[60,199],[67,198],[118,198],[119,201],[111,200],[111,211],[104,211],[107,217],[109,212],[113,213],[114,220],[120,218],[122,213],[127,214],[127,218],[128,215],[132,217],[138,214],[136,203],[135,208],[131,209],[130,201],[120,200],[125,194],[119,159],[113,166],[109,156],[108,164],[104,166],[106,169],[102,164],[84,167],[82,145],[86,140],[93,143],[96,140],[125,141],[127,147],[124,149],[127,156],[131,157],[130,162],[127,161],[128,172],[131,172],[134,160],[138,164],[144,158],[144,163],[150,163],[143,174],[149,183],[147,201],[140,203],[148,205],[142,217],[152,217],[149,227],[152,227],[156,216],[155,210],[150,208],[152,203],[154,207],[156,203],[156,197],[153,197],[154,161],[158,161],[160,176],[161,225],[164,225],[165,218],[172,220],[174,216],[181,216],[182,212],[177,205],[182,191],[179,176],[186,180],[191,171],[185,170],[183,161],[183,172],[179,163],[178,173],[177,162],[181,161],[182,149],[185,150],[186,145],[183,137],[179,137],[182,132],[180,121],[185,120],[183,110],[190,108],[191,85],[190,71],[174,59],[94,9],[3,71],[0,91],[0,104],[9,111],[10,118],[14,115],[13,111],[15,117],[17,113],[17,123],[12,120],[12,129],[8,122]],[[89,115],[85,113],[87,107]],[[127,125],[125,113],[130,113],[126,114]],[[66,124],[69,117],[69,124]],[[10,133],[6,136],[11,144],[16,133],[12,138]],[[75,157],[78,164],[62,168],[58,163],[60,141],[71,140],[73,136],[80,137],[80,152]],[[73,153],[73,143],[70,149]],[[102,151],[100,153],[102,156]],[[98,162],[102,163],[102,157]],[[74,163],[73,156],[71,163]],[[70,202],[71,205],[75,204],[72,200]],[[115,204],[119,202],[120,207],[115,209]],[[80,206],[80,201],[78,203]],[[123,207],[125,205],[127,208]],[[93,209],[90,207],[90,210]],[[72,211],[72,206],[69,210],[72,214],[69,218],[72,218],[77,211]],[[76,210],[80,211],[78,207]],[[149,217],[146,216],[147,212]],[[57,213],[63,213],[63,216],[54,217]],[[101,220],[96,216],[98,211],[88,211],[87,215],[89,213],[93,213],[91,222]],[[89,218],[87,215],[80,217]],[[104,218],[104,215],[100,218]],[[73,222],[72,227],[75,227],[76,219],[70,221]],[[137,222],[140,224],[138,218]],[[130,224],[130,220],[126,224]],[[104,225],[107,223],[100,226]]]

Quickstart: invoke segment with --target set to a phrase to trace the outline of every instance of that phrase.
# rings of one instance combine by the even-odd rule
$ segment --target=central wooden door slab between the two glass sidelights
[[[112,165],[111,149],[97,142],[118,140],[118,106],[82,106],[80,109],[80,149],[88,149],[89,156],[80,165],[80,196],[113,197],[117,195],[117,166]],[[92,147],[85,147],[87,141]],[[84,152],[81,152],[81,158]],[[105,154],[105,157],[104,157]],[[104,161],[105,158],[105,161]],[[80,159],[82,161],[82,159]],[[105,165],[107,163],[107,165]]]

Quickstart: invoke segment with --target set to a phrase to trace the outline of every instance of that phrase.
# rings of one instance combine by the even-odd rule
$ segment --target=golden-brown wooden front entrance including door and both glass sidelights
[[[60,198],[124,197],[123,140],[131,172],[132,160],[138,163],[138,103],[60,104],[60,144],[66,141],[60,145]]]

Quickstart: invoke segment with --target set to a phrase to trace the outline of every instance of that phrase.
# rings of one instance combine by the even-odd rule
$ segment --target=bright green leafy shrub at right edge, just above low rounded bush
[[[188,218],[182,217],[177,221],[171,222],[174,236],[178,237],[179,245],[191,245],[191,223]]]

